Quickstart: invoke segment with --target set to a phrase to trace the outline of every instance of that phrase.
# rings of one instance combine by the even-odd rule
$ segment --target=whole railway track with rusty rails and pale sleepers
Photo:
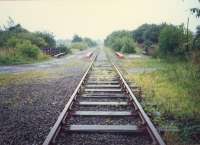
[[[95,56],[43,145],[165,145],[119,69]]]

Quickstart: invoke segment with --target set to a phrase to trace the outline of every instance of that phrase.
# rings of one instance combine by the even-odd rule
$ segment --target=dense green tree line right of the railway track
[[[134,53],[136,44],[145,51],[154,49],[156,57],[192,58],[199,61],[200,26],[192,33],[184,25],[143,24],[133,31],[115,31],[107,36],[105,45],[115,51]]]

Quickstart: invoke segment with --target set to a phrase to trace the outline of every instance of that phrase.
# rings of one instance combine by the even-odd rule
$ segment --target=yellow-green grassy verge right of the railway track
[[[160,127],[178,128],[181,142],[199,142],[200,73],[197,65],[186,61],[137,58],[124,60],[130,68],[156,68],[129,73],[127,78],[142,87],[143,107]]]

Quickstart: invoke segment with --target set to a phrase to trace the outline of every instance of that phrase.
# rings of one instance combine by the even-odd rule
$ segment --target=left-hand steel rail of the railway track
[[[67,116],[67,113],[68,111],[70,110],[72,104],[73,104],[73,101],[75,100],[75,98],[77,97],[77,94],[79,93],[79,91],[81,90],[81,86],[82,84],[84,83],[87,75],[88,75],[88,72],[90,71],[90,69],[92,68],[92,65],[96,59],[97,55],[94,56],[91,64],[89,65],[88,69],[86,70],[86,72],[84,73],[81,81],[79,82],[78,86],[76,87],[74,93],[72,94],[72,96],[70,97],[69,101],[67,102],[67,104],[65,105],[63,111],[60,113],[56,123],[54,124],[54,126],[52,127],[51,131],[49,132],[48,136],[46,137],[43,145],[49,145],[52,143],[52,141],[56,138],[58,132],[60,131],[61,129],[61,126],[63,124],[63,121],[64,119],[66,118]]]

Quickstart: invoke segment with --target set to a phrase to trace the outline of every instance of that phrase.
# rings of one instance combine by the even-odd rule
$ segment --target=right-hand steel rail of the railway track
[[[158,133],[158,131],[156,130],[155,126],[151,122],[150,118],[144,112],[142,106],[140,105],[140,103],[136,99],[136,97],[133,94],[132,90],[130,89],[129,85],[126,83],[126,81],[125,81],[122,73],[120,72],[120,70],[118,69],[118,67],[113,62],[111,62],[111,63],[114,66],[114,68],[115,68],[116,72],[118,73],[118,75],[120,76],[120,80],[122,82],[122,85],[125,87],[127,93],[130,95],[131,99],[134,101],[135,109],[138,110],[138,113],[140,114],[142,120],[144,121],[144,124],[146,125],[148,132],[153,137],[152,138],[153,141],[155,142],[155,144],[165,145],[163,139],[161,138],[161,136]]]

